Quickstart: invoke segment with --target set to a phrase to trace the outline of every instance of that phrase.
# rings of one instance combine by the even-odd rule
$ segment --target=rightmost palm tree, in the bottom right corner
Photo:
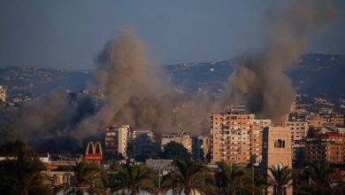
[[[328,166],[313,165],[305,169],[307,183],[313,194],[334,194],[334,181],[339,180],[338,172]]]

